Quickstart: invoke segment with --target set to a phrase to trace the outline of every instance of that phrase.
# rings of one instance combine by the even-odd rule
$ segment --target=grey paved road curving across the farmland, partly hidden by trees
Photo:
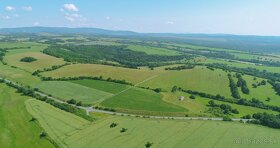
[[[3,79],[0,77],[0,79]],[[4,79],[5,83],[12,83],[14,85],[20,86],[18,83],[14,83],[10,80]],[[42,92],[35,91],[35,94],[38,94],[42,97],[47,97],[48,99],[52,99],[56,102],[59,103],[65,103],[68,104],[67,102],[61,101],[57,98],[48,96],[47,94],[44,94]],[[83,107],[83,106],[76,106],[73,104],[70,104],[72,106],[75,106],[79,109],[83,109],[89,114],[90,112],[98,112],[98,113],[103,113],[103,114],[110,114],[110,115],[117,115],[117,116],[131,116],[131,117],[140,117],[140,118],[152,118],[152,119],[175,119],[175,120],[215,120],[215,121],[222,121],[223,118],[209,118],[209,117],[176,117],[176,116],[149,116],[149,115],[137,115],[137,114],[128,114],[128,113],[121,113],[121,112],[112,112],[112,111],[105,111],[105,110],[100,110],[100,109],[95,109],[94,107]],[[242,120],[243,122],[247,122],[252,119],[240,119],[240,118],[234,118],[232,119],[233,121],[240,121]]]

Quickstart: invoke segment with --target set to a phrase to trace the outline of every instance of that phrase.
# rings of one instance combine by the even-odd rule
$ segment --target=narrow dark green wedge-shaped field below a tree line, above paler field
[[[107,81],[99,81],[99,80],[73,80],[73,81],[69,81],[69,82],[83,85],[83,86],[86,86],[89,88],[109,92],[112,94],[119,93],[119,92],[129,88],[128,85],[107,82]]]

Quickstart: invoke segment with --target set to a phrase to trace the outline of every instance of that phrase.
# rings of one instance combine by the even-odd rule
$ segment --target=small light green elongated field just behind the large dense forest
[[[133,51],[145,52],[150,55],[179,55],[180,53],[174,50],[169,50],[160,47],[140,46],[140,45],[129,45],[128,49]]]

